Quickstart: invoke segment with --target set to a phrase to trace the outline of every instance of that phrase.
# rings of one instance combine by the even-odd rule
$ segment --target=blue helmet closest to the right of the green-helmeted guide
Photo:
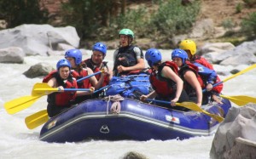
[[[152,67],[154,63],[162,60],[162,55],[158,49],[149,48],[145,54],[145,58],[148,60],[148,65]]]

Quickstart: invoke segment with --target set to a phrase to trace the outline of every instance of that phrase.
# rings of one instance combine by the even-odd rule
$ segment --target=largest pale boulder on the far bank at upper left
[[[21,25],[0,31],[0,48],[23,48],[26,55],[47,55],[58,43],[79,47],[80,38],[73,26]]]

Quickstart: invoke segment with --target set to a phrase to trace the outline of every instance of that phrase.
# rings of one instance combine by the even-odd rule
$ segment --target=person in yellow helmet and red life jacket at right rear
[[[200,65],[203,65],[207,67],[208,69],[214,71],[212,64],[210,64],[205,58],[199,56],[196,54],[196,45],[195,42],[191,39],[185,39],[179,44],[179,48],[183,49],[189,57],[189,60],[191,63],[198,63]],[[216,101],[220,104],[222,104],[221,99],[218,98],[218,94],[221,93],[223,89],[223,83],[219,84],[218,86],[212,88],[212,85],[214,83],[221,82],[220,78],[216,74],[216,79],[212,82],[207,82],[207,93],[204,94],[204,98],[207,98],[208,96],[211,98],[210,100]],[[209,101],[210,102],[210,101]]]

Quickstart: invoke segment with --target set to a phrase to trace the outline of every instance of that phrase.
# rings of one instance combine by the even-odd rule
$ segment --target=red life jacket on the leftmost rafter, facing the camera
[[[49,82],[49,80],[53,77],[55,77],[58,87],[62,86],[63,88],[78,88],[77,82],[71,75],[67,78],[67,81],[64,82],[57,71],[51,71],[48,76],[44,77],[43,82]],[[76,95],[76,91],[55,92],[48,95],[47,102],[49,105],[70,106],[73,105]]]

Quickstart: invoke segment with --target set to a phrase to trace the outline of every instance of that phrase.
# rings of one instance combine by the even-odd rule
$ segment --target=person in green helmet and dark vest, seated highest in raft
[[[119,31],[120,48],[113,53],[113,76],[137,74],[145,68],[143,51],[132,45],[134,33],[130,29]]]

